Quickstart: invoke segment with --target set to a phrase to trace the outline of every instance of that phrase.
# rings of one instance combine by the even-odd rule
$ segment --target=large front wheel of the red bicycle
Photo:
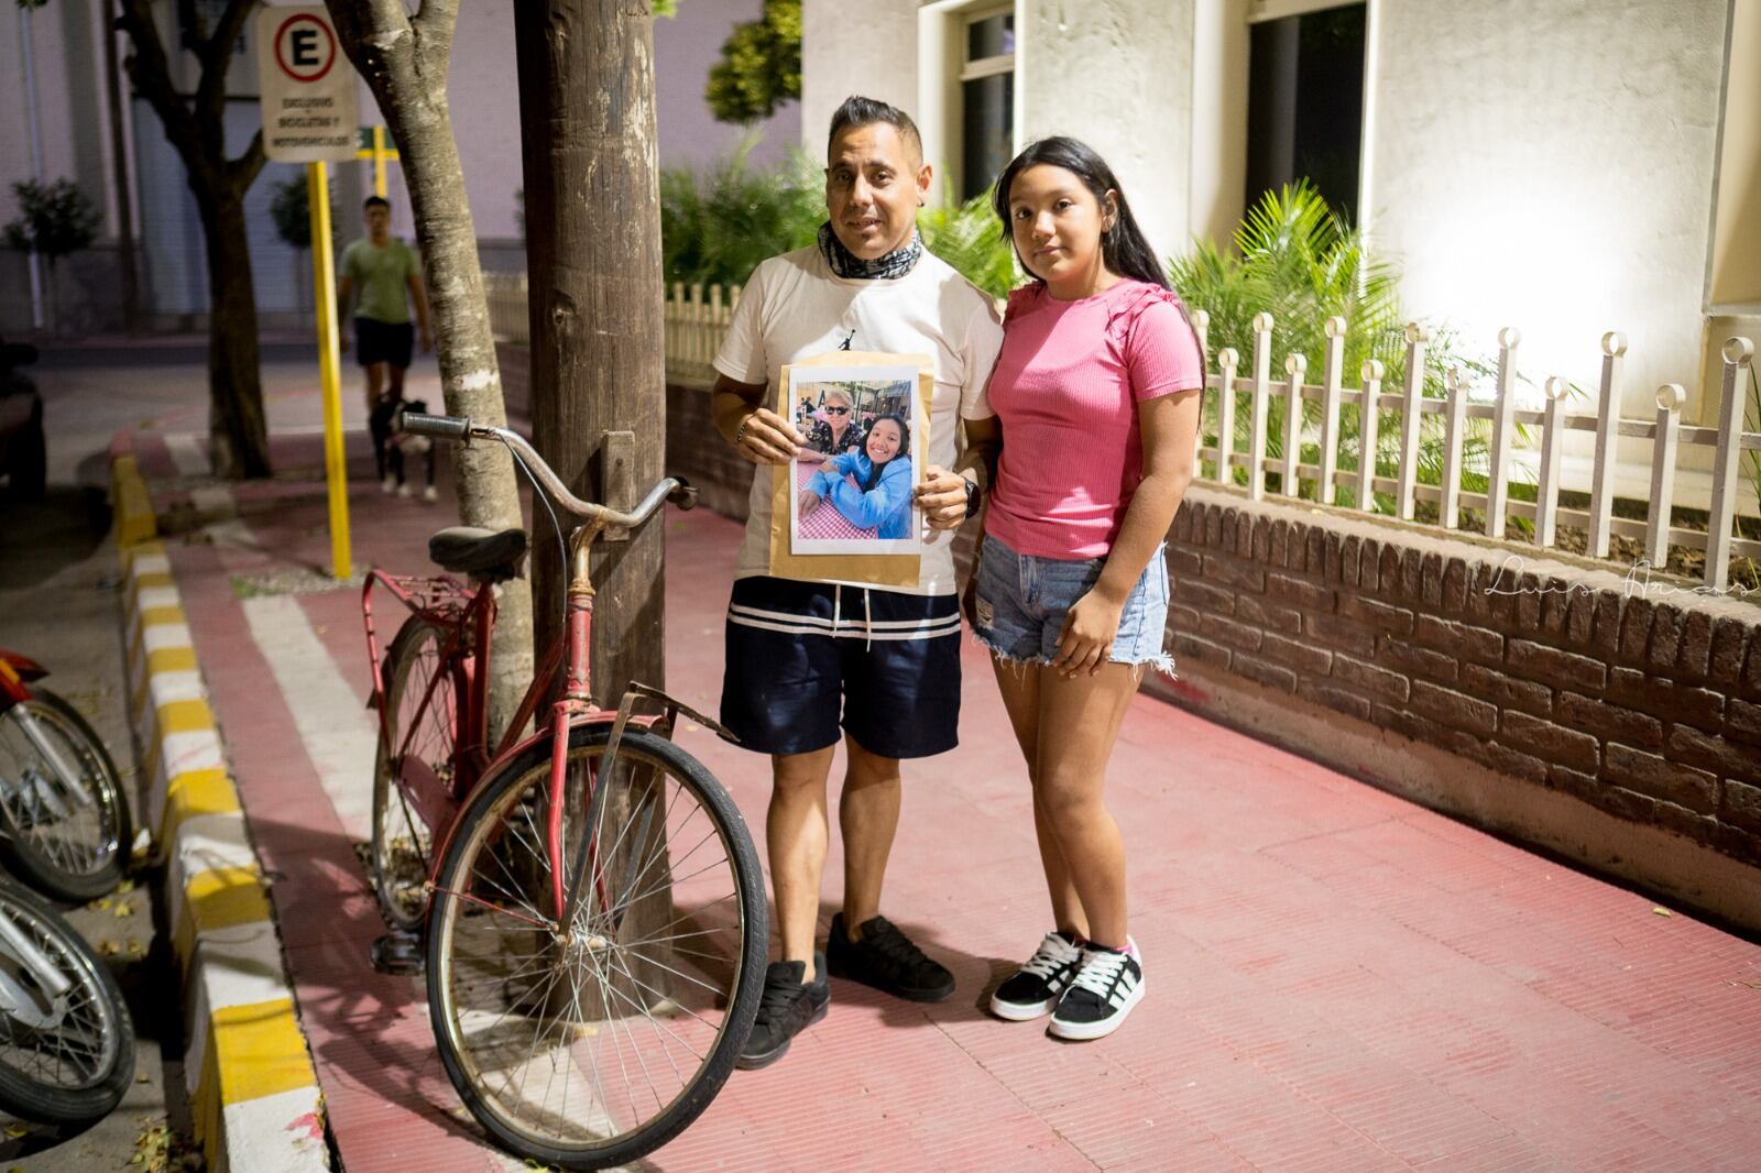
[[[504,1145],[567,1169],[653,1152],[710,1104],[752,1030],[768,926],[757,852],[720,782],[671,741],[571,731],[556,925],[549,741],[484,782],[446,851],[428,1006],[447,1076]],[[588,780],[604,801],[588,823]]]

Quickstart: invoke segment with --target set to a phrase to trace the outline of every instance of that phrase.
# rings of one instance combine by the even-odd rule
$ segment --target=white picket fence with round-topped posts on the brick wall
[[[490,287],[490,317],[497,336],[507,342],[527,342],[527,278],[525,275],[486,273]],[[722,291],[720,285],[673,285],[666,299],[666,368],[674,382],[708,386],[715,379],[710,365],[722,343],[734,306],[740,305],[740,287]],[[1194,314],[1203,340],[1208,315]],[[1326,358],[1321,382],[1305,382],[1308,363],[1301,354],[1284,359],[1284,375],[1273,379],[1273,321],[1270,314],[1254,319],[1252,368],[1240,368],[1242,356],[1224,349],[1215,356],[1215,372],[1206,386],[1213,393],[1206,417],[1215,426],[1217,444],[1199,444],[1199,467],[1205,481],[1234,484],[1234,472],[1245,470],[1247,493],[1259,500],[1268,493],[1266,472],[1278,474],[1278,491],[1273,495],[1338,504],[1338,488],[1347,486],[1354,507],[1365,513],[1388,513],[1398,521],[1416,523],[1418,502],[1437,505],[1440,525],[1449,530],[1462,527],[1462,511],[1485,514],[1488,537],[1507,537],[1509,518],[1523,518],[1534,527],[1534,546],[1555,550],[1560,525],[1587,532],[1585,553],[1608,558],[1611,537],[1620,535],[1641,542],[1643,558],[1662,569],[1669,546],[1685,546],[1706,555],[1705,581],[1710,588],[1729,585],[1731,555],[1761,562],[1761,541],[1736,534],[1736,513],[1742,500],[1745,453],[1761,453],[1761,433],[1743,430],[1743,405],[1749,393],[1754,343],[1749,338],[1731,338],[1724,345],[1722,398],[1719,423],[1712,428],[1682,423],[1685,391],[1680,384],[1657,389],[1657,416],[1654,419],[1624,419],[1620,416],[1620,372],[1627,342],[1620,333],[1603,335],[1603,373],[1594,395],[1592,410],[1574,412],[1567,402],[1569,386],[1562,379],[1546,380],[1544,410],[1523,410],[1516,402],[1516,349],[1522,335],[1516,329],[1499,333],[1497,395],[1490,403],[1470,403],[1465,382],[1458,372],[1449,372],[1448,398],[1423,395],[1425,347],[1428,335],[1423,326],[1411,324],[1405,331],[1405,379],[1398,389],[1384,389],[1384,368],[1368,361],[1359,372],[1361,386],[1344,386],[1345,321],[1326,322]],[[1268,456],[1271,437],[1271,403],[1282,402],[1280,456]],[[1319,433],[1305,426],[1305,403],[1319,403]],[[1367,410],[1372,405],[1374,410]],[[1245,414],[1243,414],[1245,412]],[[1351,412],[1351,416],[1347,416]],[[1425,417],[1440,419],[1442,476],[1432,484],[1421,474],[1421,437]],[[1238,421],[1247,426],[1240,428]],[[1483,476],[1469,477],[1469,421],[1488,421],[1488,460]],[[1356,424],[1356,442],[1344,444],[1344,423]],[[1382,439],[1384,428],[1393,428],[1395,440]],[[1539,428],[1541,453],[1536,481],[1536,500],[1514,500],[1511,495],[1513,460],[1520,428]],[[1430,432],[1435,432],[1435,424]],[[1245,432],[1247,444],[1236,451],[1236,433]],[[1592,467],[1590,502],[1587,509],[1560,505],[1560,454],[1567,432],[1594,432],[1595,458]],[[1615,440],[1634,437],[1652,442],[1650,497],[1645,521],[1617,518],[1615,493]],[[1305,461],[1303,444],[1319,460]],[[1435,447],[1435,439],[1425,439]],[[1682,528],[1671,523],[1675,498],[1676,458],[1684,446],[1713,449],[1712,507],[1706,530]],[[1389,461],[1374,458],[1393,449],[1393,476],[1382,476]],[[1342,453],[1358,458],[1356,468],[1342,467]],[[1433,454],[1433,453],[1432,453]],[[1750,456],[1749,460],[1756,460]],[[1208,465],[1208,468],[1206,468]],[[1381,465],[1381,468],[1379,468]],[[1305,497],[1307,483],[1307,497]]]

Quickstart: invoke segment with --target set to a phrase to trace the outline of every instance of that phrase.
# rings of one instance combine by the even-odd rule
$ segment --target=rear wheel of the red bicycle
[[[460,682],[442,657],[446,645],[444,629],[412,615],[386,652],[387,736],[373,761],[372,868],[379,909],[393,928],[421,926],[428,912],[423,882],[433,859],[433,828],[403,794],[398,773],[419,763],[440,786],[453,786]]]

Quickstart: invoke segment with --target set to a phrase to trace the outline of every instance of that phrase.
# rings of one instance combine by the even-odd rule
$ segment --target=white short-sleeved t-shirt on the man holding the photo
[[[715,356],[715,370],[766,387],[777,407],[782,368],[829,350],[935,356],[930,400],[930,463],[953,468],[958,419],[988,419],[990,379],[1002,349],[1002,322],[990,296],[928,250],[896,278],[836,277],[817,245],[759,264]],[[770,572],[771,465],[755,465],[747,537],[734,578]],[[828,579],[829,581],[829,579]],[[903,594],[954,594],[953,530],[928,530],[917,586]]]

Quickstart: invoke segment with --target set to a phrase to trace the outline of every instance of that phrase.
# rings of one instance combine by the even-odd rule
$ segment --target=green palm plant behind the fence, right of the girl
[[[1344,379],[1358,380],[1367,359],[1384,366],[1384,387],[1395,389],[1405,380],[1405,322],[1400,314],[1400,269],[1374,255],[1361,229],[1345,224],[1307,181],[1266,192],[1254,204],[1234,232],[1233,248],[1215,241],[1196,241],[1185,257],[1168,264],[1168,275],[1180,296],[1210,315],[1208,345],[1212,354],[1234,347],[1242,368],[1252,370],[1254,315],[1270,312],[1275,329],[1273,377],[1284,377],[1282,358],[1301,354],[1308,361],[1310,380],[1319,380],[1326,358],[1324,324],[1330,317],[1345,319]],[[1488,377],[1490,366],[1463,354],[1453,331],[1432,331],[1425,352],[1425,396],[1446,396],[1446,373],[1455,366],[1469,377]],[[1284,398],[1268,403],[1266,456],[1284,458]],[[1321,405],[1303,403],[1303,435],[1317,432]],[[1377,451],[1374,454],[1379,476],[1395,476],[1398,461],[1398,430],[1391,421],[1377,421]],[[1206,442],[1215,444],[1215,409],[1206,414]],[[1247,412],[1236,414],[1233,451],[1245,451],[1252,421]],[[1340,412],[1340,468],[1358,468],[1361,409]],[[1463,468],[1467,488],[1483,488],[1486,474],[1488,437],[1485,421],[1469,421],[1463,442]],[[1444,423],[1439,416],[1425,416],[1419,432],[1418,479],[1425,484],[1442,481]],[[1319,446],[1303,444],[1300,460],[1319,461]],[[1245,479],[1245,470],[1236,470]],[[1270,474],[1277,484],[1278,474]],[[1479,484],[1474,484],[1479,481]],[[1314,486],[1303,486],[1310,495]],[[1351,490],[1340,486],[1345,500]],[[1388,505],[1391,502],[1379,502]]]

